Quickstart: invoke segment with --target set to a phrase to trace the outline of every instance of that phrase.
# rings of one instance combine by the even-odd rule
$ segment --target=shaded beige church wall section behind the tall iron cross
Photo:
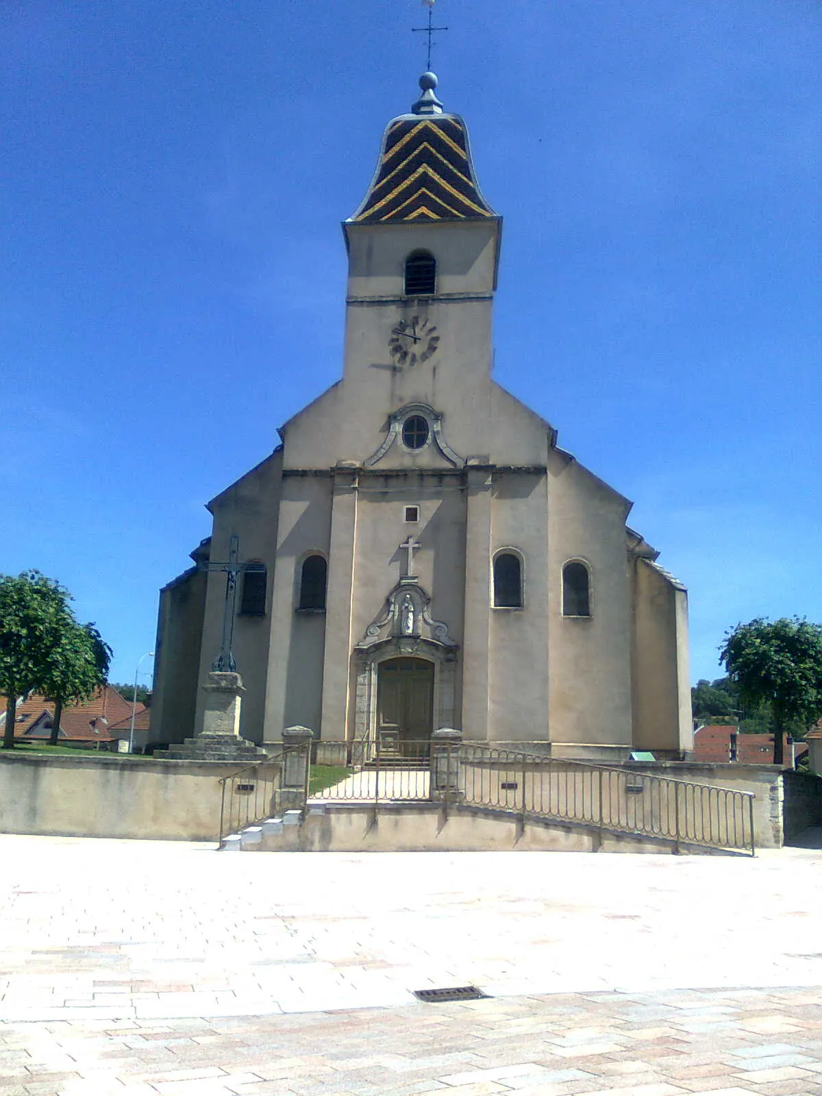
[[[239,614],[242,579],[237,590],[238,616],[235,620],[235,659],[246,693],[242,697],[240,734],[252,742],[263,738],[265,677],[269,662],[269,637],[272,619],[272,587],[275,579],[276,538],[282,453],[275,452],[209,503],[214,514],[212,561],[227,560],[232,534],[240,538],[240,559],[259,560],[267,571],[266,614],[263,617]],[[195,728],[202,727],[206,681],[212,663],[220,651],[226,575],[209,572],[199,652],[197,713]]]

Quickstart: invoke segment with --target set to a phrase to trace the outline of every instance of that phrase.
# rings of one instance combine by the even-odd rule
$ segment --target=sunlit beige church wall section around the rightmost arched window
[[[556,450],[549,460],[548,573],[552,743],[583,745],[592,760],[631,742],[631,613],[626,500]],[[562,566],[591,570],[591,616],[562,616]],[[620,751],[621,747],[621,751]]]

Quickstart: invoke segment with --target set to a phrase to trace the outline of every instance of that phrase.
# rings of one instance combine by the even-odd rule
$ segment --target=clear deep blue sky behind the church
[[[635,500],[692,676],[822,621],[818,0],[437,0],[504,216],[495,376]],[[341,370],[345,253],[418,0],[7,0],[0,571],[130,680],[203,503]],[[144,669],[148,670],[148,661]]]

